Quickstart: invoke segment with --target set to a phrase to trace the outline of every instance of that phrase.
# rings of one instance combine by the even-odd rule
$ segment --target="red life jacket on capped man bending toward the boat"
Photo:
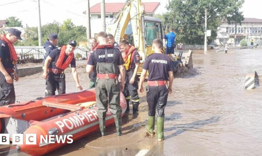
[[[65,49],[66,49],[66,46],[62,46],[61,48],[61,52],[60,52],[60,55],[59,55],[59,58],[58,60],[56,61],[56,67],[57,68],[60,68],[62,70],[65,70],[69,64],[71,63],[71,61],[73,60],[74,58],[74,53],[70,54],[68,56],[68,58],[65,60],[65,62],[63,63],[64,61],[64,58],[65,58]]]

